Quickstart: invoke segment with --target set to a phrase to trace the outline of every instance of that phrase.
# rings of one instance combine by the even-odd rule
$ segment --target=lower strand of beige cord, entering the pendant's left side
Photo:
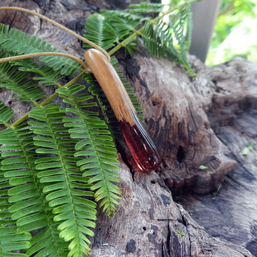
[[[69,55],[69,54],[65,54],[65,53],[57,53],[57,52],[33,53],[33,54],[27,54],[27,55],[11,56],[11,57],[6,57],[6,58],[0,59],[0,63],[14,61],[14,60],[20,60],[20,59],[26,59],[26,58],[33,58],[35,56],[45,56],[45,55],[59,55],[59,56],[72,58],[73,60],[79,62],[87,71],[91,72],[89,67],[83,61],[81,61],[81,59],[79,59],[73,55]]]

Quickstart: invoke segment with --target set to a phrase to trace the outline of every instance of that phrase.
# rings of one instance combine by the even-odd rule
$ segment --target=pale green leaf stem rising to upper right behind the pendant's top
[[[181,7],[183,7],[184,5],[188,5],[190,3],[196,2],[198,0],[188,0],[185,1],[184,3],[181,3],[180,5],[176,5],[175,7],[168,9],[168,11],[166,11],[165,13],[163,13],[161,16],[156,17],[155,19],[153,19],[152,21],[149,21],[150,23],[156,24],[160,19],[162,19],[165,15],[168,15],[170,13],[172,13],[173,11],[175,11],[176,9],[179,9]],[[134,33],[132,35],[130,35],[127,39],[123,40],[122,42],[118,43],[118,45],[116,47],[114,47],[113,49],[111,49],[108,53],[109,55],[112,55],[113,53],[115,53],[116,51],[118,51],[121,47],[123,47],[124,45],[126,45],[128,40],[133,39],[134,37],[141,35],[141,31],[143,30],[144,27],[135,30]]]

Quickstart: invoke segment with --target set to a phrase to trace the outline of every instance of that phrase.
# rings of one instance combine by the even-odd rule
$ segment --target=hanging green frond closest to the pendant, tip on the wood
[[[85,171],[83,176],[93,176],[89,183],[97,182],[91,187],[91,190],[97,190],[95,193],[96,201],[102,200],[100,206],[104,205],[103,211],[106,211],[109,217],[113,216],[116,210],[115,204],[119,203],[115,199],[121,199],[117,194],[121,194],[119,188],[113,182],[120,182],[119,175],[114,170],[119,168],[113,164],[119,164],[114,148],[113,138],[109,136],[109,130],[104,121],[95,117],[96,113],[85,111],[83,107],[92,104],[83,104],[85,100],[92,98],[86,94],[77,95],[84,87],[73,85],[69,88],[59,88],[56,91],[64,98],[65,103],[69,103],[73,108],[61,108],[62,111],[76,114],[77,117],[64,118],[65,126],[75,126],[70,128],[71,138],[77,138],[80,141],[75,149],[81,150],[74,154],[75,157],[88,156],[77,162],[81,170]]]

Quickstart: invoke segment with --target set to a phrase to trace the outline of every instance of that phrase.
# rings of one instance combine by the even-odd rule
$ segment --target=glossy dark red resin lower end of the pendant
[[[133,115],[136,123],[130,126],[128,122],[120,121],[119,126],[126,140],[128,148],[140,172],[156,170],[160,164],[160,155],[152,142],[146,128],[137,115]]]

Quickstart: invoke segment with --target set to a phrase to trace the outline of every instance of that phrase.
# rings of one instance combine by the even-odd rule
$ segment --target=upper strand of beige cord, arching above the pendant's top
[[[59,23],[57,23],[57,22],[55,22],[55,21],[45,17],[44,15],[41,15],[41,14],[36,13],[34,11],[27,10],[27,9],[24,9],[24,8],[20,8],[20,7],[0,7],[0,10],[16,10],[16,11],[22,11],[22,12],[26,12],[26,13],[30,13],[30,14],[36,15],[36,16],[40,17],[41,19],[49,21],[50,23],[52,23],[53,25],[59,27],[60,29],[63,29],[65,31],[71,33],[73,36],[77,37],[78,39],[81,39],[85,43],[87,43],[87,44],[91,45],[92,47],[94,47],[95,49],[99,50],[100,52],[102,52],[107,57],[109,62],[111,60],[110,55],[105,50],[103,50],[101,47],[99,47],[98,45],[94,44],[93,42],[85,39],[84,37],[81,37],[80,35],[78,35],[77,33],[73,32],[72,30],[67,29],[63,25],[61,25],[61,24],[59,24]]]

